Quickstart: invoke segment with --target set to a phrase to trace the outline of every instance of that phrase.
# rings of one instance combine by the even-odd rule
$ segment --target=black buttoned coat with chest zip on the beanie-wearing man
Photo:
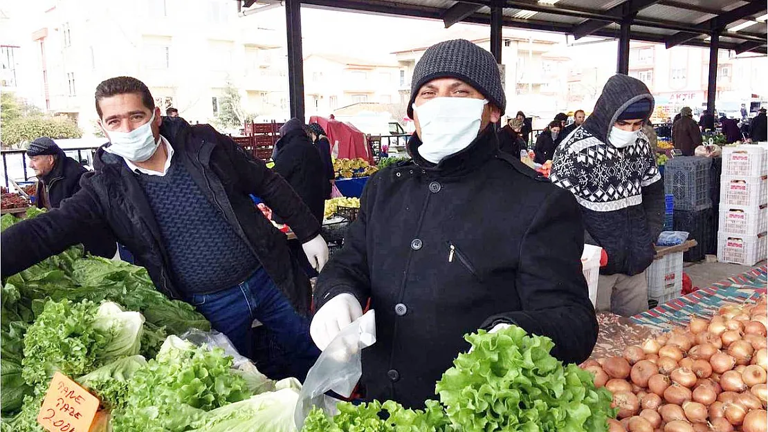
[[[588,358],[598,327],[573,196],[499,152],[492,127],[436,167],[420,145],[414,134],[415,161],[368,180],[316,287],[317,308],[349,292],[376,309],[366,398],[421,406],[468,348],[462,336],[499,322],[552,338],[563,361]]]

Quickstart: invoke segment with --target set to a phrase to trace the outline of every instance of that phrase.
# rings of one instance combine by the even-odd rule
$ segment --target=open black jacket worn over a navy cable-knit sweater
[[[208,125],[176,123],[161,134],[174,147],[174,163],[184,163],[208,200],[223,213],[253,249],[266,272],[306,315],[310,285],[298,263],[290,258],[286,236],[274,228],[253,205],[249,194],[260,196],[276,214],[290,223],[302,241],[320,232],[319,223],[282,177],[253,159],[242,147]],[[81,190],[59,209],[23,220],[2,232],[2,272],[12,275],[87,239],[91,226],[105,224],[127,247],[137,265],[147,272],[158,290],[170,298],[184,299],[170,275],[160,229],[136,174],[123,158],[97,150],[98,170],[86,173]]]

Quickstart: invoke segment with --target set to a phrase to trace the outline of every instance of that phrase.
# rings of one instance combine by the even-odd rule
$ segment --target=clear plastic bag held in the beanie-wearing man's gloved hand
[[[304,419],[313,407],[323,408],[326,414],[336,414],[335,398],[326,396],[334,391],[349,397],[362,376],[360,351],[376,343],[376,314],[369,310],[357,318],[333,338],[320,354],[301,388],[299,403],[296,404],[294,420],[301,430]]]

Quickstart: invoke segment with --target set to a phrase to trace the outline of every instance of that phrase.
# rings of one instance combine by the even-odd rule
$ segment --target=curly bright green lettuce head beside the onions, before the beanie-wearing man
[[[551,339],[514,325],[465,339],[472,350],[458,355],[436,386],[458,430],[607,430],[607,418],[615,416],[611,393],[595,389],[575,364],[563,367],[549,354]]]

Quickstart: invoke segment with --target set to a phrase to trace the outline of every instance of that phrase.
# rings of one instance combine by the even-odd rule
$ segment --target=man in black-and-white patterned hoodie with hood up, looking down
[[[645,271],[664,222],[664,182],[641,130],[653,110],[642,81],[614,75],[584,125],[554,153],[550,180],[576,196],[584,241],[608,256],[598,312],[631,316],[648,307]]]

